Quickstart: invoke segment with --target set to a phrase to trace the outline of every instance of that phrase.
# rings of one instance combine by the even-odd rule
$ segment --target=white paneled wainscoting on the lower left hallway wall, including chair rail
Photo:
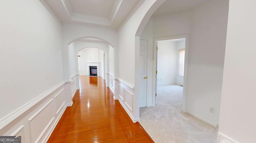
[[[22,136],[22,143],[46,143],[68,106],[66,94],[72,96],[71,92],[66,92],[66,87],[75,93],[78,78],[74,76],[69,82],[60,82],[2,118],[0,135]]]

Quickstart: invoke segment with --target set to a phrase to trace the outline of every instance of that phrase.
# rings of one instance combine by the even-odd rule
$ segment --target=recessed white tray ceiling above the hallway
[[[62,23],[117,29],[140,0],[41,0]]]

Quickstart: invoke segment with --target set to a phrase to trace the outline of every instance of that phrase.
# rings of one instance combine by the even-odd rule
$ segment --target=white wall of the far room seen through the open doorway
[[[158,41],[157,85],[175,84],[177,47],[173,41]]]

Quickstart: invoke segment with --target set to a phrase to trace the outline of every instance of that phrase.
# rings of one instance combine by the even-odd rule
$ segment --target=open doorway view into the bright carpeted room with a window
[[[157,41],[156,104],[182,109],[186,38]]]

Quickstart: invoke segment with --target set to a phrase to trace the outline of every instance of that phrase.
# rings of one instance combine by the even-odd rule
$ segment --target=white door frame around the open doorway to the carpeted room
[[[188,78],[188,46],[189,46],[189,35],[176,35],[168,37],[156,37],[154,38],[154,50],[153,50],[153,95],[156,95],[156,41],[170,40],[170,39],[181,39],[186,38],[185,41],[185,61],[184,61],[184,80],[183,80],[183,100],[182,100],[182,111],[186,112],[186,93],[187,93],[187,78]],[[156,105],[156,96],[153,97],[153,105]]]

